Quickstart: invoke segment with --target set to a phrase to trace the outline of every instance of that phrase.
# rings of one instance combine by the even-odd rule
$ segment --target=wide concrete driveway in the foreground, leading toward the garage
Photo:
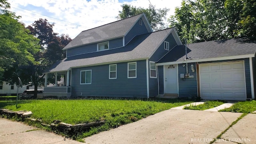
[[[170,109],[84,140],[86,144],[209,144],[239,116],[241,113]],[[215,143],[256,144],[255,120],[256,114],[248,114],[222,135],[227,140]]]

